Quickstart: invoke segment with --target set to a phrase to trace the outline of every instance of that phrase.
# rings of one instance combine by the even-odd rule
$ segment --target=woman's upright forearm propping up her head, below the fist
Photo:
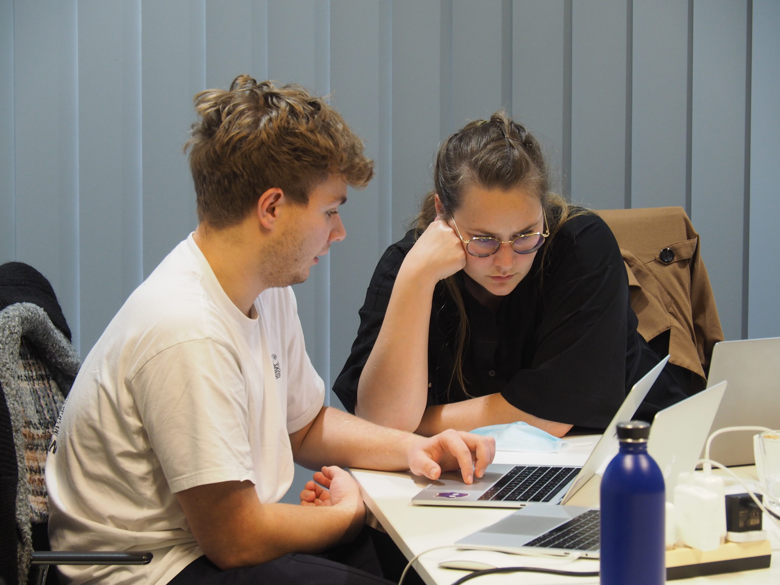
[[[433,281],[433,282],[431,282]],[[357,387],[357,416],[414,431],[427,404],[428,324],[436,280],[403,264]]]

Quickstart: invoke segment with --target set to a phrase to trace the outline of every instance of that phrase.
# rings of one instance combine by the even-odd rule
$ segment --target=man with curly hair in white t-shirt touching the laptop
[[[344,238],[339,206],[373,163],[301,87],[239,76],[195,105],[197,229],[84,360],[46,468],[55,548],[154,559],[60,570],[73,583],[386,583],[321,554],[364,523],[341,467],[460,469],[470,482],[495,444],[323,406],[290,285]],[[293,461],[320,469],[300,506],[276,503]]]

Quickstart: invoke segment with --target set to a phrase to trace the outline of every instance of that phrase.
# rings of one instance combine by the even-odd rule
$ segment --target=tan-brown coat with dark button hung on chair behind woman
[[[649,207],[596,213],[618,240],[640,335],[658,347],[657,353],[668,349],[669,363],[690,371],[694,392],[704,389],[712,349],[723,341],[723,330],[699,235],[685,210]]]

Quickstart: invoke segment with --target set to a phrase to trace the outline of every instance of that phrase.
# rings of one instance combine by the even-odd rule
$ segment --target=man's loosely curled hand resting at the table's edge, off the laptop
[[[360,488],[349,473],[337,466],[323,467],[314,473],[314,480],[307,481],[300,492],[300,505],[327,505],[343,509],[350,517],[349,530],[343,542],[355,537],[366,521],[366,506],[360,497]]]

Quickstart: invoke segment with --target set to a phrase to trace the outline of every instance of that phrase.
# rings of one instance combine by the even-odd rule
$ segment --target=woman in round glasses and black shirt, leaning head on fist
[[[604,428],[662,357],[636,324],[612,232],[551,193],[537,140],[497,112],[441,145],[434,191],[381,257],[334,391],[360,417],[427,435]],[[639,416],[685,397],[665,372]]]

